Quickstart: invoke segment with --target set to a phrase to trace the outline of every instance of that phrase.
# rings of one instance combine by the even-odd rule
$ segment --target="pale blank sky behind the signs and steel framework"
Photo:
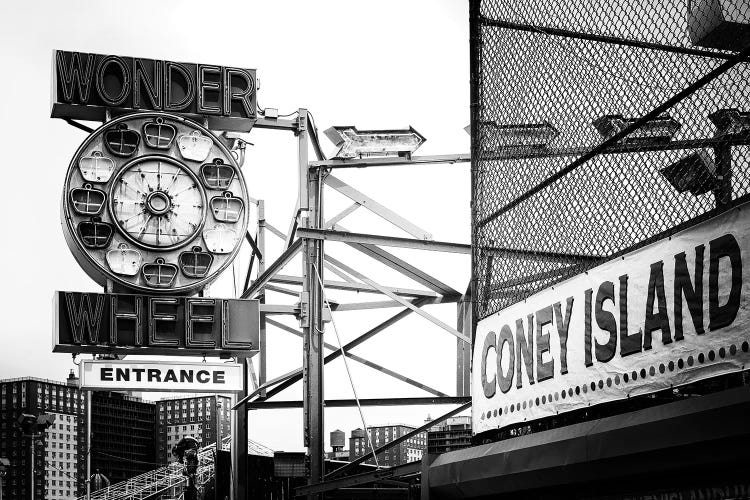
[[[64,380],[75,368],[69,354],[52,353],[55,290],[101,291],[77,265],[63,239],[60,199],[70,159],[86,133],[51,119],[52,51],[116,54],[255,68],[262,107],[290,113],[310,110],[326,154],[335,152],[322,132],[333,125],[360,129],[413,126],[427,138],[417,154],[468,153],[469,38],[465,0],[378,1],[176,1],[37,0],[0,2],[0,148],[6,176],[0,217],[4,286],[0,288],[0,378],[34,376]],[[289,132],[253,130],[243,167],[252,197],[265,200],[266,219],[286,231],[296,201],[297,143]],[[312,150],[310,157],[313,158]],[[353,169],[334,172],[430,232],[436,240],[469,243],[470,174],[466,163]],[[325,193],[328,219],[351,202]],[[251,223],[253,225],[254,223]],[[409,236],[359,209],[342,221],[351,231]],[[419,288],[341,243],[330,255],[381,284]],[[389,249],[455,289],[466,289],[466,255]],[[268,236],[267,263],[281,252]],[[248,253],[209,290],[234,297]],[[301,272],[299,259],[284,274]],[[330,291],[330,300],[383,300],[376,295]],[[269,293],[269,303],[292,297]],[[454,304],[426,310],[455,324]],[[335,313],[341,342],[397,309]],[[275,317],[289,326],[293,317]],[[332,324],[325,340],[337,344]],[[455,393],[456,340],[427,320],[410,315],[353,352],[443,392]],[[269,327],[268,376],[301,366],[301,342]],[[257,360],[255,360],[257,363]],[[359,397],[427,395],[370,368],[350,362]],[[326,367],[327,398],[350,398],[344,365]],[[158,398],[158,394],[145,397]],[[296,384],[279,399],[299,399]],[[418,425],[452,407],[365,408],[368,425]],[[347,433],[362,422],[356,408],[330,409],[326,442],[335,429]],[[302,450],[301,410],[254,411],[250,437],[277,450]]]

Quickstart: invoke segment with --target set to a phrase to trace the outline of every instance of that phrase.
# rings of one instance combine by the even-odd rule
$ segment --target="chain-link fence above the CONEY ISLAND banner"
[[[749,198],[746,0],[470,15],[478,320]]]

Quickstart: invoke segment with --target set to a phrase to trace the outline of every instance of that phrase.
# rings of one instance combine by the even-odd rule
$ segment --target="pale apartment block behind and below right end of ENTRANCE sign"
[[[230,435],[230,399],[226,396],[198,396],[164,399],[156,403],[156,461],[173,462],[172,447],[192,436],[205,446]],[[217,439],[218,437],[218,439]]]

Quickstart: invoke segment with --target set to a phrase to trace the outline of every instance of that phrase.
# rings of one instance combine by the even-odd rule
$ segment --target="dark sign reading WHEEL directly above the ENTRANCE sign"
[[[53,352],[236,356],[259,348],[257,300],[56,292]]]

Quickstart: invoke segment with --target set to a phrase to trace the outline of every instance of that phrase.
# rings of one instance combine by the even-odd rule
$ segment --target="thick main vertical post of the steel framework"
[[[301,228],[321,228],[321,172],[310,174],[307,155],[308,115],[299,110],[299,206]],[[305,209],[307,209],[305,211]],[[303,413],[304,442],[310,460],[308,483],[323,480],[323,291],[316,275],[323,272],[323,242],[302,239],[302,294],[300,297],[300,322],[303,334]],[[322,276],[320,280],[322,280]],[[309,495],[320,498],[320,494]]]

